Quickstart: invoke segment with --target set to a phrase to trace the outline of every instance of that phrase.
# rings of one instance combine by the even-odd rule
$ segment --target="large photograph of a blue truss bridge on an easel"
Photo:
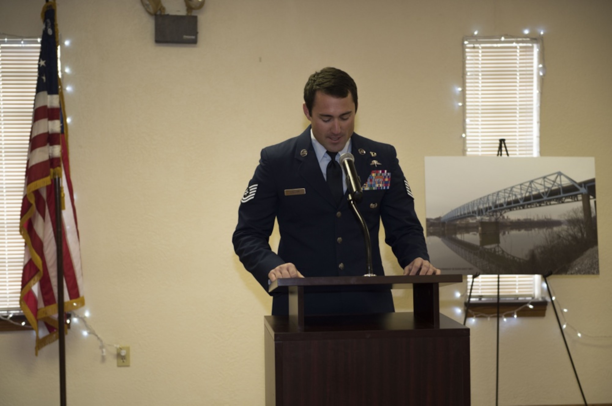
[[[444,273],[599,274],[594,158],[426,157],[425,201]]]

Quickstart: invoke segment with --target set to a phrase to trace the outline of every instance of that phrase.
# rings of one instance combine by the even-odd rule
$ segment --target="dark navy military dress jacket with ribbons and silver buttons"
[[[365,243],[346,195],[334,201],[311,141],[301,135],[261,151],[259,166],[242,197],[234,250],[244,267],[267,291],[268,273],[292,262],[305,277],[361,276],[366,273]],[[357,204],[370,230],[373,270],[384,275],[378,246],[383,220],[385,242],[401,268],[417,257],[429,260],[414,197],[401,172],[395,148],[353,134],[351,153],[363,188]],[[275,218],[278,254],[268,240]],[[358,314],[394,311],[389,290],[308,293],[306,314]],[[272,314],[287,314],[288,297],[275,294]]]

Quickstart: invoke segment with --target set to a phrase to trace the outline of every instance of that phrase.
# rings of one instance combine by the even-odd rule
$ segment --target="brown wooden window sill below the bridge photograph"
[[[468,308],[468,303],[464,304],[464,308]],[[533,308],[529,308],[531,304]],[[521,300],[521,299],[500,299],[499,312],[506,317],[544,317],[548,307],[547,300]],[[468,317],[496,317],[497,299],[479,299],[469,302]]]

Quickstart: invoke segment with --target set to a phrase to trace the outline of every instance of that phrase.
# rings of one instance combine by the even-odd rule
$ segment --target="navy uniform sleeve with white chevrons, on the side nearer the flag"
[[[278,208],[278,194],[271,166],[264,149],[253,179],[248,182],[242,196],[238,225],[232,237],[237,256],[266,292],[269,271],[285,263],[272,252],[269,245]]]

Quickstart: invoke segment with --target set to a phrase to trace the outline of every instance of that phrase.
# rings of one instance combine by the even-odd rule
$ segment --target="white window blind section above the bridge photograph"
[[[464,39],[465,153],[539,155],[540,41]],[[504,150],[505,155],[505,150]]]

